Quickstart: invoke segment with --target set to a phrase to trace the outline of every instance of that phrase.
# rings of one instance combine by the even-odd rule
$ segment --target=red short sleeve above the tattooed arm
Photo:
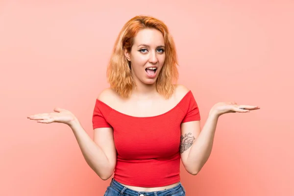
[[[190,94],[188,95],[186,101],[186,116],[184,117],[182,123],[190,122],[190,121],[200,121],[200,112],[198,105],[196,103],[196,100],[192,94],[192,92],[189,92]]]

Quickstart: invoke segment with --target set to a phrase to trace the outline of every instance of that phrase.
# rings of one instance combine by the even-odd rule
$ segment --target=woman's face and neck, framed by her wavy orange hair
[[[131,62],[131,73],[137,85],[133,94],[157,94],[155,84],[165,62],[165,42],[160,31],[143,29],[137,33],[131,51],[124,51],[125,57]],[[149,78],[147,67],[156,67],[156,77]]]

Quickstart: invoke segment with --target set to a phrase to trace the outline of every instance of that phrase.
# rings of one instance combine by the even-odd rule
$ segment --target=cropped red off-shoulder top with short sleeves
[[[129,186],[161,187],[180,181],[180,125],[198,120],[198,106],[189,91],[171,110],[152,117],[129,116],[96,99],[93,128],[113,128],[115,180]]]

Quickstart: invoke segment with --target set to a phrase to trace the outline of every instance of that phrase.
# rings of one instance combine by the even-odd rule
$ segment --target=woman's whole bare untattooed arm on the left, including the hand
[[[94,172],[102,180],[110,178],[116,165],[116,148],[111,127],[95,128],[92,139],[78,119],[66,109],[54,108],[53,113],[36,114],[27,117],[38,123],[65,123],[71,127],[81,152]]]

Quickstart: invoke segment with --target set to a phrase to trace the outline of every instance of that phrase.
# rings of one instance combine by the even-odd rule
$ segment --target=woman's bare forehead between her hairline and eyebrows
[[[145,28],[140,30],[134,38],[134,45],[138,46],[146,44],[149,46],[164,46],[164,38],[162,33],[153,28]]]

